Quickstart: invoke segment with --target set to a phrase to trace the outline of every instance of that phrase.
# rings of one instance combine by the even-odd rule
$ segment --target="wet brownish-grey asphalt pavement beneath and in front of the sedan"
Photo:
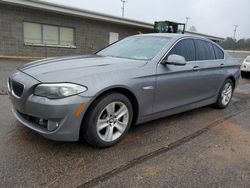
[[[0,122],[0,187],[250,187],[248,79],[227,109],[133,126],[108,149],[43,138],[14,119],[5,94]]]

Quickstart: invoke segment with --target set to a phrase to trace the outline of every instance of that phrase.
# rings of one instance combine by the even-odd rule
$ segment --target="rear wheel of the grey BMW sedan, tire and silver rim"
[[[214,106],[219,109],[226,108],[231,102],[233,91],[234,83],[231,79],[227,79],[220,89],[218,99]]]

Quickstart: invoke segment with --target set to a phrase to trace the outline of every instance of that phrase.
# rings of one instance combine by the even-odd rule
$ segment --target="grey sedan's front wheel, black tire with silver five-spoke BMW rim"
[[[86,142],[95,147],[117,144],[128,132],[133,119],[130,100],[120,93],[109,93],[90,107],[83,126]]]

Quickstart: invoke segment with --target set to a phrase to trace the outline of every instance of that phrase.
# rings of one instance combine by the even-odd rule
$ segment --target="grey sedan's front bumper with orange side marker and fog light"
[[[25,85],[22,97],[17,97],[11,90],[8,92],[13,104],[12,112],[19,122],[51,140],[79,139],[82,118],[91,98],[75,95],[47,99],[33,95],[32,87],[39,82],[32,77],[18,72],[18,76],[11,79]]]

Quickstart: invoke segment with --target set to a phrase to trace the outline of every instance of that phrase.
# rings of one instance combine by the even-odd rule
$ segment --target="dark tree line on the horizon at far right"
[[[250,38],[235,40],[227,37],[220,45],[226,50],[250,50]]]

